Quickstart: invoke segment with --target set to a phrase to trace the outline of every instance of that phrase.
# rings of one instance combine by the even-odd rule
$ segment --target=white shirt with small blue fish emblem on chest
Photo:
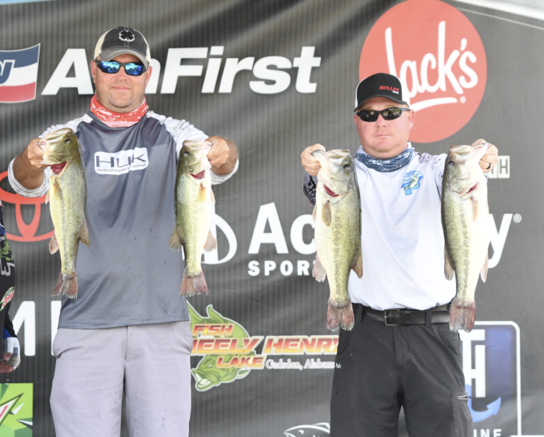
[[[391,172],[355,160],[363,251],[363,277],[351,271],[349,278],[355,303],[375,310],[427,310],[455,296],[455,279],[444,277],[441,188],[446,154],[424,162],[419,157],[414,153],[407,165]]]

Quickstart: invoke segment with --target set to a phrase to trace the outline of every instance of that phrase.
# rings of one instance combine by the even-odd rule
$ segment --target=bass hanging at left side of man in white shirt
[[[361,198],[355,164],[348,150],[316,150],[312,155],[321,164],[317,174],[314,208],[317,249],[312,276],[329,280],[331,294],[327,328],[353,328],[353,307],[348,293],[351,269],[363,276],[361,254]]]

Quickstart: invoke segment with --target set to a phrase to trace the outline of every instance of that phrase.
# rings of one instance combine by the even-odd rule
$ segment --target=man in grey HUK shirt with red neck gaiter
[[[148,110],[149,46],[133,28],[108,30],[91,61],[96,95],[77,133],[86,166],[90,247],[77,257],[77,299],[63,297],[51,410],[57,437],[118,436],[126,393],[130,436],[188,436],[193,346],[174,229],[176,161],[184,140],[208,140],[212,184],[237,169],[236,145]],[[38,138],[9,166],[21,195],[47,192]]]

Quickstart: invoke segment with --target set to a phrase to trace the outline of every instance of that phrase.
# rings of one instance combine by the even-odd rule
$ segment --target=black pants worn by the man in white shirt
[[[447,323],[386,327],[363,317],[340,331],[331,437],[470,437],[459,335]]]

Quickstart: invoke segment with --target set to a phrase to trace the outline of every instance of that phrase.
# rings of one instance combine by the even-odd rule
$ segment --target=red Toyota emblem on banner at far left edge
[[[0,181],[6,177],[8,177],[7,171],[0,173]],[[4,203],[13,203],[13,205],[15,205],[15,218],[17,220],[19,232],[21,232],[21,237],[6,232],[9,240],[12,240],[13,242],[40,242],[44,239],[50,239],[53,236],[53,232],[55,231],[47,232],[47,234],[43,235],[36,235],[38,225],[40,224],[41,206],[42,203],[45,203],[45,195],[42,195],[40,198],[26,198],[22,195],[8,193],[0,188],[0,199]],[[30,222],[30,225],[27,225],[23,220],[21,205],[34,205],[34,217],[32,222]]]

